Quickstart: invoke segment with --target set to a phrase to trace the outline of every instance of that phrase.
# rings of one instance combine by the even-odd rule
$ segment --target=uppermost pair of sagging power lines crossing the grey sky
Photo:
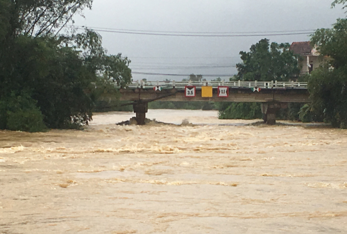
[[[85,30],[81,27],[76,27],[77,30]],[[93,28],[91,28],[93,29]],[[168,34],[168,33],[141,33],[141,32],[123,32],[117,30],[102,30],[102,29],[93,29],[96,32],[107,32],[107,33],[120,33],[120,34],[135,34],[135,35],[152,35],[152,36],[175,36],[175,37],[263,37],[263,36],[288,36],[288,35],[308,35],[313,32],[303,32],[303,33],[278,33],[278,34],[250,34],[250,35],[224,35],[224,34]]]

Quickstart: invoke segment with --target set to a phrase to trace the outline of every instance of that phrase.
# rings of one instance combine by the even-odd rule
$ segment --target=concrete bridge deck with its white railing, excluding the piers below
[[[195,86],[195,97],[186,97],[185,87]],[[202,87],[212,86],[212,97],[202,97]],[[218,87],[228,87],[228,97],[218,97]],[[157,90],[156,90],[157,87]],[[158,89],[160,87],[160,89]],[[260,88],[256,90],[254,88]],[[303,82],[133,82],[120,88],[124,101],[229,101],[229,102],[309,102]],[[104,100],[115,99],[105,95]]]

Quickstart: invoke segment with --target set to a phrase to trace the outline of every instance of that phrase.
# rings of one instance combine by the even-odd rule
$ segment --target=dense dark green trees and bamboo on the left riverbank
[[[93,31],[59,34],[91,0],[0,0],[0,129],[88,124],[100,87],[131,81],[130,61],[107,55]]]

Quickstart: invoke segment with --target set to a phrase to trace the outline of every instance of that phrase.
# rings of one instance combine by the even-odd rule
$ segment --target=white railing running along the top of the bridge
[[[184,89],[186,86],[195,86],[197,89],[201,89],[202,86],[212,86],[217,88],[218,86],[226,86],[230,88],[262,88],[262,89],[307,89],[307,82],[277,82],[277,81],[135,81],[128,85],[128,88],[145,88],[151,89],[156,86],[160,86],[162,89]]]

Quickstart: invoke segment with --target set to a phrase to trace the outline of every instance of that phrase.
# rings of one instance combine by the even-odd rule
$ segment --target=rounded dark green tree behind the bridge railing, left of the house
[[[243,81],[288,81],[300,74],[298,57],[289,50],[289,43],[269,44],[262,39],[250,52],[240,51],[243,63],[236,64],[238,78]]]

